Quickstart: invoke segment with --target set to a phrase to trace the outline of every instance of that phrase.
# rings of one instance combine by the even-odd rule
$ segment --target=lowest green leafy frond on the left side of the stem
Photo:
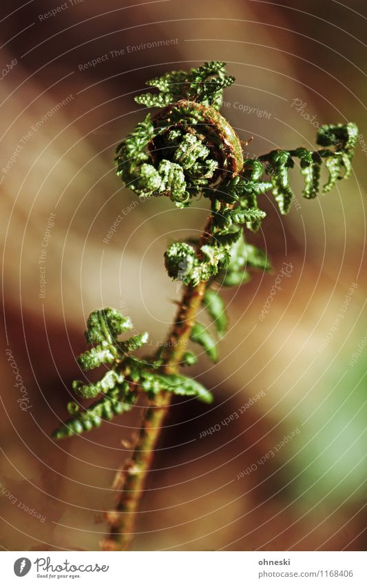
[[[99,309],[93,311],[87,322],[85,337],[92,345],[91,349],[78,356],[77,361],[83,371],[101,365],[111,365],[107,373],[98,382],[86,384],[74,380],[72,388],[81,398],[103,397],[92,406],[79,410],[76,402],[69,402],[67,409],[72,418],[61,424],[53,436],[63,439],[80,435],[94,427],[100,427],[103,420],[112,420],[114,415],[132,409],[139,396],[139,391],[147,393],[148,398],[162,390],[180,396],[195,396],[203,402],[211,402],[213,397],[202,384],[186,376],[160,373],[162,360],[143,360],[131,355],[140,349],[149,339],[148,333],[118,341],[118,336],[132,329],[132,322],[124,318],[116,309]]]

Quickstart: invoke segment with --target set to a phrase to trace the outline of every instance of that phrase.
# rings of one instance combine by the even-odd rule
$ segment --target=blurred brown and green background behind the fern
[[[134,548],[363,549],[365,3],[74,0],[43,17],[61,5],[14,0],[0,9],[1,547],[98,550],[114,475],[144,405],[81,437],[50,439],[67,416],[85,320],[96,307],[120,308],[156,347],[180,295],[162,254],[207,214],[206,201],[186,210],[167,198],[137,205],[114,174],[114,148],[142,119],[133,98],[146,79],[218,59],[236,78],[223,112],[242,140],[253,136],[251,156],[313,145],[315,122],[355,121],[361,137],[353,176],[327,196],[297,196],[285,218],[264,197],[268,217],[249,240],[266,247],[273,272],[225,292],[231,325],[220,362],[202,356],[193,370],[216,400],[209,408],[174,402]],[[249,113],[255,108],[266,115]],[[292,181],[300,193],[297,171]],[[291,275],[260,320],[284,263]],[[26,395],[14,385],[7,349]],[[221,424],[258,393],[244,414]]]

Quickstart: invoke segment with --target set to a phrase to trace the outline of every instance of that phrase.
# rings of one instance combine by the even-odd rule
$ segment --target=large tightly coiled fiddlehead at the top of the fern
[[[147,197],[167,195],[185,207],[194,195],[238,174],[243,165],[240,141],[218,112],[222,88],[233,81],[219,62],[149,81],[160,93],[136,101],[166,107],[148,114],[117,147],[117,174],[125,185]]]

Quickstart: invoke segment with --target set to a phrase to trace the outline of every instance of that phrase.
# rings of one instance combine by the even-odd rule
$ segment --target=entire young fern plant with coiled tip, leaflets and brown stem
[[[266,215],[259,198],[271,192],[280,213],[288,213],[294,198],[289,170],[296,162],[308,199],[319,192],[323,164],[328,171],[323,192],[351,172],[358,137],[353,123],[322,126],[317,133],[319,150],[272,150],[244,159],[240,138],[219,113],[222,90],[234,81],[225,74],[224,65],[211,61],[149,81],[158,92],[145,92],[135,100],[158,110],[147,114],[116,149],[116,172],[136,194],[164,195],[177,207],[187,207],[201,195],[209,200],[210,213],[198,240],[175,242],[165,252],[167,273],[182,283],[184,291],[167,342],[154,356],[138,358],[133,353],[145,345],[147,333],[119,340],[132,323],[115,309],[93,311],[87,321],[85,335],[91,348],[79,356],[78,364],[84,371],[102,365],[110,369],[96,383],[74,381],[73,389],[81,398],[101,398],[84,409],[70,402],[70,419],[54,431],[54,438],[99,427],[103,420],[132,409],[142,394],[149,404],[134,453],[116,479],[118,502],[105,516],[109,536],[102,543],[104,550],[131,546],[138,504],[171,396],[213,400],[202,384],[179,369],[196,362],[195,354],[187,351],[189,340],[213,362],[218,360],[216,337],[196,318],[200,307],[207,310],[220,338],[228,323],[220,287],[237,287],[248,282],[251,269],[271,267],[266,254],[244,238],[244,228],[255,232]]]

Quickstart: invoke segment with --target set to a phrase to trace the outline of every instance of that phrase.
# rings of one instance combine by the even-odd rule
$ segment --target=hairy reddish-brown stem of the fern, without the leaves
[[[200,238],[203,245],[211,236],[212,216],[209,216],[207,225]],[[196,320],[196,314],[202,304],[202,298],[207,287],[201,282],[196,287],[185,287],[174,324],[167,338],[163,353],[164,373],[176,373],[187,349],[191,329]],[[171,404],[171,394],[160,392],[143,416],[138,440],[132,457],[125,462],[118,475],[118,502],[113,512],[106,514],[110,526],[109,537],[101,544],[104,551],[128,551],[134,538],[136,513],[143,496],[145,482],[154,457],[154,449],[162,432],[162,425]]]

